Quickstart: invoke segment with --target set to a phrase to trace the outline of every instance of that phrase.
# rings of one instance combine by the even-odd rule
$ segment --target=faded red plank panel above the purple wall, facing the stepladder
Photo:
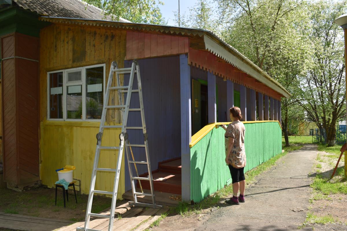
[[[126,59],[188,53],[188,37],[127,32]]]

